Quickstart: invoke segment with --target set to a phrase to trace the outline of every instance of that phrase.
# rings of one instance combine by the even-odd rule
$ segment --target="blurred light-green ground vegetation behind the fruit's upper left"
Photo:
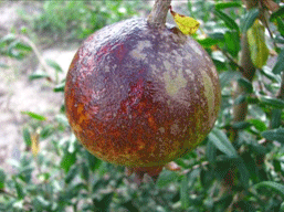
[[[42,12],[24,19],[32,29],[53,40],[83,40],[97,29],[133,17],[139,9],[136,1],[44,1]]]

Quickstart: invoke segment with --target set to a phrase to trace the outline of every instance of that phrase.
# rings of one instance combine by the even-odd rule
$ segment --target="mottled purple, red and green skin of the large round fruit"
[[[65,86],[67,118],[82,145],[127,167],[160,169],[192,150],[213,127],[220,99],[207,52],[177,28],[154,29],[145,19],[92,34]]]

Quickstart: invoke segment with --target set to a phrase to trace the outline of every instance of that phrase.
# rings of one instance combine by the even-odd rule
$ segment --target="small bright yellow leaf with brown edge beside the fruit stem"
[[[170,7],[170,13],[173,17],[175,22],[178,24],[179,30],[183,34],[194,34],[199,28],[199,22],[191,17],[186,17],[173,12]]]

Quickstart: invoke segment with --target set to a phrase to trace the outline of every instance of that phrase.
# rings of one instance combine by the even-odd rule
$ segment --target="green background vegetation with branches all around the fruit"
[[[217,66],[222,106],[208,138],[176,161],[181,171],[164,170],[156,184],[149,180],[139,188],[133,176],[125,177],[124,168],[96,159],[77,142],[63,106],[60,75],[67,70],[44,60],[41,51],[78,45],[106,24],[146,17],[150,3],[19,3],[18,24],[0,29],[1,72],[14,68],[11,60],[21,66],[34,57],[42,71],[24,77],[49,84],[62,105],[49,118],[21,112],[23,148],[18,159],[4,158],[12,171],[0,168],[0,211],[284,211],[284,4],[280,0],[172,1],[177,12],[201,23],[194,39]]]

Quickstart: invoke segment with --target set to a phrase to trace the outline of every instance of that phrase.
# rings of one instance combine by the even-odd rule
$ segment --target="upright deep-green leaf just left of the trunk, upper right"
[[[233,56],[236,57],[241,49],[239,32],[227,31],[224,33],[225,49]]]

